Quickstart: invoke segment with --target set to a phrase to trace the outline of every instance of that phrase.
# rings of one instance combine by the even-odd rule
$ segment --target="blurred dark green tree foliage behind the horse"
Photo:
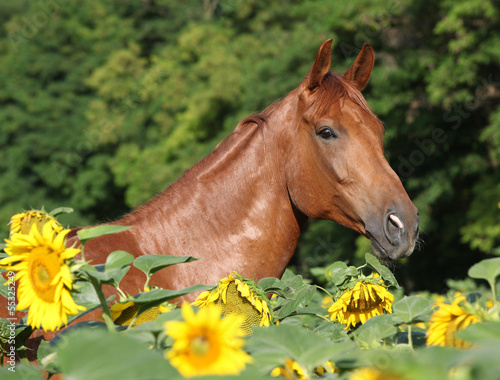
[[[440,291],[500,254],[499,8],[2,0],[2,232],[32,207],[73,207],[61,219],[72,226],[119,217],[292,90],[325,39],[338,72],[368,42],[377,60],[365,96],[386,125],[386,156],[420,210],[424,240],[393,269],[407,291]],[[368,249],[353,232],[311,222],[293,265],[314,276]]]

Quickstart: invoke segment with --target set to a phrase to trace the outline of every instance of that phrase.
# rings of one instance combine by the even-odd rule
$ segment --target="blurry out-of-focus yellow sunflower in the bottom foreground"
[[[245,333],[241,315],[220,318],[219,308],[209,305],[194,313],[191,305],[182,305],[182,321],[165,323],[166,334],[173,338],[166,358],[184,377],[237,375],[252,358],[242,350]]]

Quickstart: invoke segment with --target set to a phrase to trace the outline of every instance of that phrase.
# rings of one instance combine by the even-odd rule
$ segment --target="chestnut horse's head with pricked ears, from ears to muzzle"
[[[283,128],[290,199],[309,217],[366,236],[380,258],[406,257],[418,238],[418,210],[384,157],[384,126],[360,92],[373,68],[373,49],[365,44],[341,76],[329,71],[331,43],[321,45],[285,100],[297,109]]]

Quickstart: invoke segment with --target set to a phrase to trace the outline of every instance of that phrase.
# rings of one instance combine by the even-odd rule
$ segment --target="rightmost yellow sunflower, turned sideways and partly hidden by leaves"
[[[463,295],[457,294],[451,305],[437,302],[437,309],[429,321],[427,330],[428,346],[469,347],[469,344],[457,338],[456,332],[465,329],[470,324],[480,322],[477,315],[469,314],[460,303],[465,302]]]

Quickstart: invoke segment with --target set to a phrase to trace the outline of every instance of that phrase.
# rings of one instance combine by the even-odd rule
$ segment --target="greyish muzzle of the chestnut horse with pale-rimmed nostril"
[[[382,260],[398,260],[411,255],[418,240],[418,211],[389,210],[382,223],[367,223],[366,236]],[[373,219],[372,219],[373,220]]]

